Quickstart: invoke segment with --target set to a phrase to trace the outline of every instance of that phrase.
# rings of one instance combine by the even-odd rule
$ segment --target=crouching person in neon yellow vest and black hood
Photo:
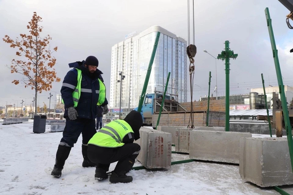
[[[88,143],[88,157],[97,163],[95,179],[108,178],[110,163],[118,161],[110,176],[111,183],[132,182],[128,173],[139,154],[140,146],[133,143],[139,139],[139,129],[143,126],[141,114],[132,110],[124,120],[114,120],[101,128]]]

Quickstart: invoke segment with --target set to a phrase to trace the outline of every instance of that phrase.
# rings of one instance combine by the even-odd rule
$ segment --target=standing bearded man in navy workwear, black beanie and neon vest
[[[83,167],[95,167],[87,155],[88,142],[96,134],[97,106],[109,112],[106,99],[106,87],[103,74],[97,69],[99,61],[89,56],[79,66],[67,72],[61,87],[62,102],[64,103],[66,124],[63,138],[56,153],[56,162],[51,175],[61,176],[61,171],[73,145],[82,134]]]

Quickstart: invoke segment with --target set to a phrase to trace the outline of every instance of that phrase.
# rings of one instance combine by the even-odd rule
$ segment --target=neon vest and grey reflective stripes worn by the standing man
[[[81,88],[81,78],[82,78],[81,70],[77,69],[77,68],[76,68],[76,70],[77,70],[77,85],[73,86],[73,85],[68,84],[68,83],[63,83],[62,84],[62,86],[66,86],[66,87],[69,87],[71,89],[74,89],[74,91],[72,92],[74,108],[77,107],[77,105],[78,105],[78,101],[79,101],[81,92],[92,93],[91,89],[83,89],[83,88]],[[99,94],[99,100],[98,100],[98,103],[97,103],[97,105],[99,106],[99,105],[102,105],[104,103],[104,101],[105,101],[105,98],[106,98],[106,86],[100,79],[98,79],[98,81],[99,81],[100,90],[96,90],[96,94]],[[64,104],[63,99],[61,99],[61,102]]]

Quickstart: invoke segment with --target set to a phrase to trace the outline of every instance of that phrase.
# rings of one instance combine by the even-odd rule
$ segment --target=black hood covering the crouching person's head
[[[127,116],[124,118],[125,122],[127,122],[134,132],[134,139],[138,140],[139,136],[139,129],[143,126],[143,117],[139,112],[136,110],[132,110],[128,113]]]

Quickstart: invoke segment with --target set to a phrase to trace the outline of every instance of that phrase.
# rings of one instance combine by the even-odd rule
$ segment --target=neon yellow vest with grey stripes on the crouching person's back
[[[100,129],[88,144],[107,148],[121,147],[124,145],[122,140],[128,133],[133,133],[133,130],[125,120],[114,120]]]

